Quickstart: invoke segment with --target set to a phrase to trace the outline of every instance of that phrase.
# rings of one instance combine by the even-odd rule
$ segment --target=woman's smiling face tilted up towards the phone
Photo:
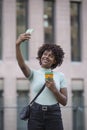
[[[41,57],[41,66],[43,68],[51,68],[51,66],[56,62],[55,56],[51,50],[44,51]]]

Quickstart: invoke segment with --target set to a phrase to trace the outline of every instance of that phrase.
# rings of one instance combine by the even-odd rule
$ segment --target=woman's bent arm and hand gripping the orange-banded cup
[[[53,80],[46,81],[46,86],[53,92],[60,104],[63,106],[67,104],[67,88],[60,88],[60,91],[58,91]]]

